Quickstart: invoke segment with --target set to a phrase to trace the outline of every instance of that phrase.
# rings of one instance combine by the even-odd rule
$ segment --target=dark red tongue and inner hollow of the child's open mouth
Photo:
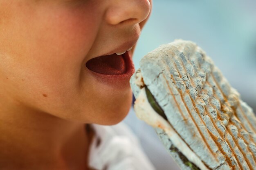
[[[124,57],[117,54],[90,59],[86,67],[100,74],[124,74],[126,72]]]

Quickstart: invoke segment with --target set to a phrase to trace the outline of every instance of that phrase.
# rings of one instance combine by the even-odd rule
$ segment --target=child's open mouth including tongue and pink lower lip
[[[135,71],[131,51],[95,57],[85,66],[98,82],[122,90],[130,88],[129,80]]]

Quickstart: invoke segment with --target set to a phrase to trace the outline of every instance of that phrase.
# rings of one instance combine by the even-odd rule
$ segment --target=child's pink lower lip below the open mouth
[[[132,74],[135,72],[135,68],[132,63],[132,53],[131,51],[126,51],[122,56],[126,63],[126,72],[124,74],[100,74],[89,69],[86,70],[88,70],[92,76],[97,78],[101,83],[119,88],[130,87],[129,81]]]

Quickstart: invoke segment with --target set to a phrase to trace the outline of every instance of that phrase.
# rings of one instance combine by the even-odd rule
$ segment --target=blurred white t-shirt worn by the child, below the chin
[[[96,135],[89,148],[89,166],[96,170],[155,170],[139,140],[124,123],[92,124]],[[101,142],[98,142],[100,139]],[[98,145],[98,146],[97,146]]]

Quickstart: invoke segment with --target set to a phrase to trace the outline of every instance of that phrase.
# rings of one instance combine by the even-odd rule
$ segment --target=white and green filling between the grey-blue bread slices
[[[150,126],[164,130],[171,139],[173,146],[175,146],[169,149],[171,152],[176,152],[179,155],[184,165],[190,167],[192,170],[208,170],[201,159],[195,155],[167,121],[164,111],[159,107],[147,87],[141,88],[135,101],[134,109],[139,119],[144,120]]]

